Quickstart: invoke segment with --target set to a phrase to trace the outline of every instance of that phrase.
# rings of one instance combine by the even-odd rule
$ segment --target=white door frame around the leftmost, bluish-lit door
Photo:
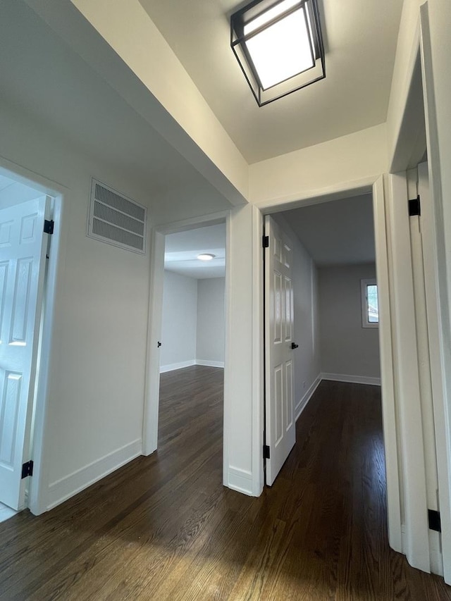
[[[44,315],[41,345],[41,361],[39,375],[37,377],[37,394],[35,400],[35,421],[32,432],[32,448],[30,457],[33,460],[33,476],[28,485],[27,506],[32,514],[39,515],[47,511],[47,487],[48,487],[48,457],[49,457],[49,432],[47,429],[47,406],[49,395],[49,380],[51,370],[54,367],[52,357],[55,356],[54,349],[54,321],[55,300],[58,284],[58,271],[63,264],[64,247],[61,244],[63,227],[66,225],[64,208],[69,190],[44,176],[29,171],[3,156],[0,156],[0,173],[9,176],[17,182],[30,186],[54,197],[55,222],[54,234],[51,236],[49,264],[47,281],[44,289]]]

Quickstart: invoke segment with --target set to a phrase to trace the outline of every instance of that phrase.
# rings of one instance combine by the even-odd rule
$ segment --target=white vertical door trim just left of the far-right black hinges
[[[430,571],[423,416],[408,213],[407,173],[388,176],[387,228],[398,448],[402,472],[402,552],[409,564]]]

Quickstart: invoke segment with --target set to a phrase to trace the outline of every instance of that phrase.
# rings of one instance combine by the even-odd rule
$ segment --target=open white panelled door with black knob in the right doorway
[[[292,244],[270,216],[265,235],[266,484],[272,485],[296,442]]]

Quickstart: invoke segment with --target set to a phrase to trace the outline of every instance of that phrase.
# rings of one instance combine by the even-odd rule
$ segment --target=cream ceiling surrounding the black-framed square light
[[[230,49],[246,2],[140,2],[248,163],[386,120],[402,0],[319,0],[326,79],[261,108]]]

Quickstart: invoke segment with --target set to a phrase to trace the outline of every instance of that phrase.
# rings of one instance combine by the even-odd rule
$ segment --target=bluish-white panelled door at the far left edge
[[[44,287],[47,197],[0,211],[0,502],[21,509]]]

